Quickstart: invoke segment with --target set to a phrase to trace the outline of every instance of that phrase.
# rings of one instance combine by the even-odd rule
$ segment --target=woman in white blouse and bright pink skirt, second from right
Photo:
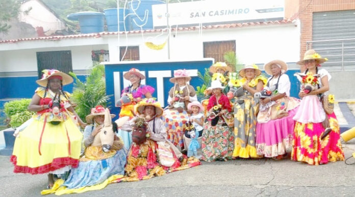
[[[257,117],[257,154],[282,159],[291,148],[294,128],[293,116],[299,101],[290,96],[291,83],[285,72],[287,64],[274,60],[264,65],[265,72],[271,77],[267,80],[266,88],[271,96],[260,99]]]

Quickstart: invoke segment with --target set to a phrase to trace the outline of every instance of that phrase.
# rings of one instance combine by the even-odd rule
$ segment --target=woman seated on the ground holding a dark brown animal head
[[[149,179],[200,164],[197,159],[187,159],[166,139],[164,123],[160,119],[163,109],[159,102],[144,99],[135,106],[135,112],[140,116],[129,121],[133,126],[134,142],[124,168],[126,176],[119,181]]]

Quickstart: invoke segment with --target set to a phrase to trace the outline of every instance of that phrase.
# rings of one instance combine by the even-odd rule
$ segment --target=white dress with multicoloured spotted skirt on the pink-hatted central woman
[[[190,115],[187,113],[188,102],[197,101],[197,96],[194,88],[190,85],[180,87],[174,85],[169,91],[168,103],[175,97],[176,91],[182,91],[182,96],[189,96],[189,101],[181,102],[184,107],[183,112],[177,111],[175,108],[167,108],[163,112],[163,120],[168,132],[168,140],[175,146],[180,147],[181,150],[187,149],[184,147],[184,133],[186,130],[186,123],[189,121]]]

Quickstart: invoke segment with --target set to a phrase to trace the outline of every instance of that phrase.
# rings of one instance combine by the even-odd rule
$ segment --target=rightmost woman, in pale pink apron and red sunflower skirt
[[[293,135],[291,159],[311,165],[344,160],[337,117],[334,112],[326,114],[319,100],[319,96],[328,99],[325,93],[329,90],[328,81],[332,78],[325,69],[318,69],[325,61],[326,59],[321,58],[315,50],[311,49],[306,51],[303,60],[297,62],[299,65],[306,65],[307,70],[304,74],[308,76],[305,76],[304,81],[298,77],[303,86],[308,83],[307,78],[310,78],[312,83],[314,75],[319,75],[314,82],[314,90],[306,93],[303,87],[299,92],[298,95],[302,100],[293,117],[297,122]]]

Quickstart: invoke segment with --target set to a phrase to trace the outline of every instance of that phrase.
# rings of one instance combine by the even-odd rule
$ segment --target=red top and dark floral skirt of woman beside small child
[[[229,99],[224,94],[216,99],[216,95],[212,95],[209,99],[207,110],[213,106],[220,104],[222,109],[232,111]],[[222,116],[215,126],[211,125],[211,120],[205,122],[204,132],[202,133],[202,160],[211,162],[217,159],[231,159],[234,149],[234,135],[232,128],[227,126]]]

